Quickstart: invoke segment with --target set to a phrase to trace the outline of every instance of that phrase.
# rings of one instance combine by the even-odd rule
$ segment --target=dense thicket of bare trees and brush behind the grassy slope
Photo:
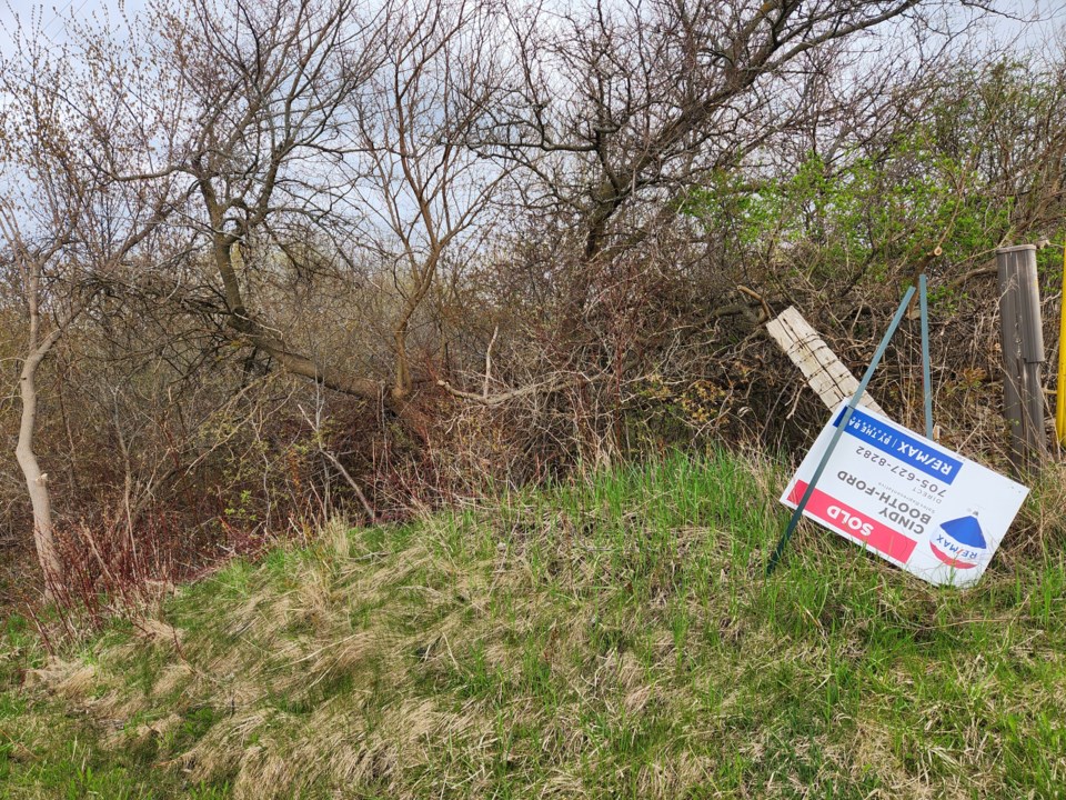
[[[859,370],[921,270],[945,439],[998,458],[988,262],[1062,240],[1066,62],[979,47],[978,11],[195,0],[12,31],[2,536],[53,591],[123,584],[334,508],[794,448],[824,410],[767,316]],[[916,348],[873,386],[912,422]]]

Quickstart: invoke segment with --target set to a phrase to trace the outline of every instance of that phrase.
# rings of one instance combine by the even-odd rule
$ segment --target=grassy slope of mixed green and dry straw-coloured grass
[[[0,797],[1066,797],[1063,557],[935,590],[806,527],[766,581],[782,480],[675,459],[336,526],[22,688],[10,621]]]

